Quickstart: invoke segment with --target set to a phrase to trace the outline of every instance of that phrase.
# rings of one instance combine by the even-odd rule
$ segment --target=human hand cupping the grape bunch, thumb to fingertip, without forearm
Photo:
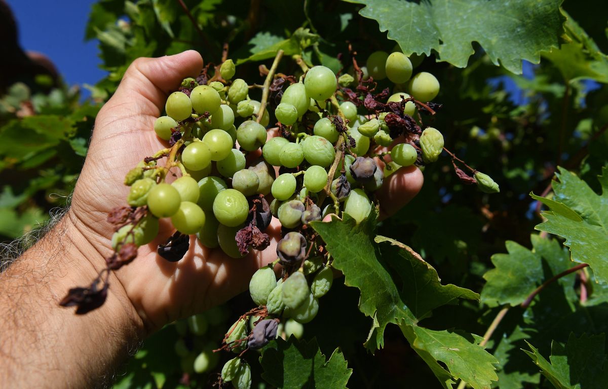
[[[165,100],[185,77],[195,77],[202,58],[194,51],[162,58],[139,58],[125,73],[112,98],[95,121],[95,130],[78,179],[70,219],[94,246],[98,255],[88,258],[97,271],[105,268],[111,255],[114,230],[106,220],[112,208],[125,205],[128,188],[122,182],[127,171],[145,156],[167,145],[153,130]],[[422,185],[418,168],[401,168],[387,178],[378,198],[381,216],[395,212],[418,193]],[[259,267],[277,258],[276,244],[280,224],[273,219],[266,233],[270,246],[252,250],[234,259],[221,249],[207,249],[191,236],[190,250],[171,263],[156,253],[157,244],[171,234],[170,222],[161,220],[159,238],[139,248],[136,260],[113,272],[110,292],[131,305],[142,319],[146,331],[154,331],[177,318],[218,305],[247,288]]]

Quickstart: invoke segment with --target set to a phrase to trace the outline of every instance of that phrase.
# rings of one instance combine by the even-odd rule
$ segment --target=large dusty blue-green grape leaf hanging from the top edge
[[[542,50],[558,47],[565,21],[562,0],[346,1],[365,5],[359,13],[378,21],[407,55],[435,50],[440,61],[465,67],[475,41],[492,63],[516,74],[522,60],[539,63]]]

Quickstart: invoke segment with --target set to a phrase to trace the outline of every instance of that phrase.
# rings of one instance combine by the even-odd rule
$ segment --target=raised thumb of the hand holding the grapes
[[[119,88],[107,105],[126,104],[133,115],[159,116],[167,95],[184,78],[196,77],[202,65],[202,57],[195,50],[161,58],[137,58],[126,69]]]

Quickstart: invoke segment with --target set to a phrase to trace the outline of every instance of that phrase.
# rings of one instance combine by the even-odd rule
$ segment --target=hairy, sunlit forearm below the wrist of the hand
[[[103,257],[69,216],[0,274],[1,382],[34,387],[98,387],[136,348],[139,316],[116,280],[105,304],[85,315],[58,302],[86,286]]]

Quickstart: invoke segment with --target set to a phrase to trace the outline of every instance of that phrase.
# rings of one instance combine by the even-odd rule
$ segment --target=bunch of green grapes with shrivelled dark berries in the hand
[[[310,224],[330,214],[362,222],[379,206],[375,191],[387,175],[399,167],[423,167],[444,150],[440,131],[423,125],[423,115],[441,108],[432,102],[437,78],[427,72],[412,77],[412,62],[398,51],[374,52],[365,67],[351,54],[350,73],[337,77],[328,67],[300,61],[302,76],[295,77],[275,74],[278,53],[266,69],[260,101],[249,97],[255,84],[233,79],[232,60],[216,66],[212,76],[207,66],[198,78],[184,80],[167,98],[166,115],[154,123],[168,147],[126,174],[129,207],[109,216],[116,233],[108,271],[129,263],[138,246],[156,237],[160,218],[170,218],[176,230],[158,248],[169,261],[182,258],[193,234],[202,246],[232,258],[264,250],[270,243],[264,231],[272,218],[280,222],[277,260],[255,272],[249,284],[255,308],[230,327],[219,348],[238,353],[224,365],[220,384],[249,388],[243,354],[277,336],[302,336],[302,324],[319,311],[334,272]],[[378,87],[384,78],[395,93]],[[276,119],[272,126],[269,111]],[[480,184],[482,173],[458,170],[463,181],[498,190],[487,176]],[[101,289],[96,285],[91,288]]]

